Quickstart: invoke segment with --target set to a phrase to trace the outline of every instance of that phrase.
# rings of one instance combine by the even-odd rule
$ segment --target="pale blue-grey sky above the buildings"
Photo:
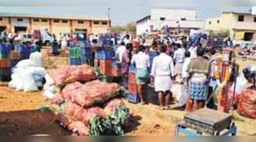
[[[244,0],[243,4],[221,3],[218,0],[207,3],[205,0],[0,0],[0,13],[107,17],[108,8],[111,8],[112,24],[125,25],[149,15],[152,8],[193,8],[198,20],[205,20],[219,16],[223,10],[248,11],[252,3],[246,1],[251,0]]]

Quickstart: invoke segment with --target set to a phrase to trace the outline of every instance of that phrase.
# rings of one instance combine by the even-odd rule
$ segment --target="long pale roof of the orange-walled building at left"
[[[42,15],[31,13],[0,13],[0,17],[56,18],[68,20],[108,20],[108,17],[88,17],[83,15]]]

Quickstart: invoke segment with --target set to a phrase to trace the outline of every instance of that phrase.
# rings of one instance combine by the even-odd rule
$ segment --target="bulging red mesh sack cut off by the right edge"
[[[256,119],[256,90],[244,90],[239,97],[237,112],[248,118]]]

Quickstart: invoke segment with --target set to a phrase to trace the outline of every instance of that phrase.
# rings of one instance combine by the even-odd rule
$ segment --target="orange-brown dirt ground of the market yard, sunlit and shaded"
[[[65,57],[51,57],[51,65],[67,64]],[[242,62],[246,65],[255,62]],[[48,65],[49,66],[49,65]],[[49,103],[42,92],[17,92],[8,88],[8,83],[0,83],[0,136],[49,134],[69,136],[54,121],[51,112],[38,111],[42,104]],[[130,125],[125,127],[128,136],[173,136],[175,125],[179,124],[185,112],[174,109],[160,111],[154,104],[141,105],[127,103],[131,111]],[[235,113],[238,135],[256,135],[256,120],[244,118]]]

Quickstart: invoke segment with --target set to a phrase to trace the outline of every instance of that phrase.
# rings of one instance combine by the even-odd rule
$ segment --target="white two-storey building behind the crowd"
[[[152,9],[150,15],[136,22],[137,34],[160,31],[166,25],[173,35],[180,32],[189,34],[190,29],[203,28],[204,21],[196,20],[195,10]]]

